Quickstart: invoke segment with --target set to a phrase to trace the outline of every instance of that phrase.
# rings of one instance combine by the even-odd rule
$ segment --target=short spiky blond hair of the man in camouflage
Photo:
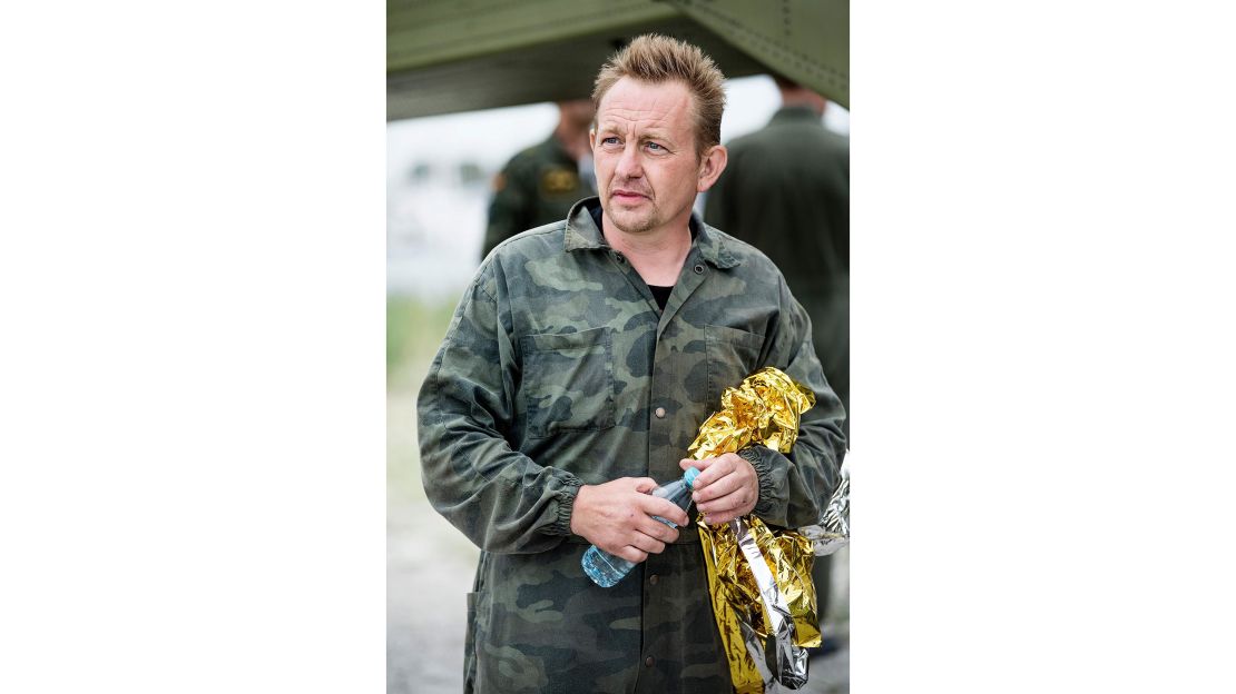
[[[601,99],[624,77],[651,84],[684,83],[695,98],[696,153],[702,156],[706,148],[721,144],[726,75],[698,47],[656,33],[635,38],[601,65],[592,89],[592,104],[598,111]]]

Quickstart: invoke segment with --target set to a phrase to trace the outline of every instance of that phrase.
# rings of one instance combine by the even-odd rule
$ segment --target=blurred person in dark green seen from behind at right
[[[849,138],[824,128],[826,99],[774,77],[781,109],[729,142],[729,163],[705,199],[705,220],[764,251],[811,315],[828,384],[849,437]],[[812,569],[824,620],[832,557]],[[834,641],[826,633],[826,650]]]

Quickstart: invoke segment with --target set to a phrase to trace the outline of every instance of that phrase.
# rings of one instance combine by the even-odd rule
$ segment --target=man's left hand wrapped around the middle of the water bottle
[[[656,483],[648,477],[624,477],[604,484],[585,484],[575,496],[571,532],[629,562],[660,554],[679,531],[655,520],[679,525],[690,519],[675,503],[649,494]]]

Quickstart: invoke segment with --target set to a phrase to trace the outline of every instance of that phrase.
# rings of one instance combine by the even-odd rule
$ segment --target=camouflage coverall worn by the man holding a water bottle
[[[481,547],[467,692],[729,690],[695,527],[613,588],[580,567],[578,488],[681,477],[722,390],[775,366],[817,399],[789,456],[758,448],[755,515],[813,524],[844,456],[807,315],[769,259],[692,217],[665,310],[582,200],[482,263],[418,400],[434,508]]]

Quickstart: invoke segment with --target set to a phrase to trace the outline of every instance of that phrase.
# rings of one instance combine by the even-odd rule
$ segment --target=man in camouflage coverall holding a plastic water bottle
[[[729,692],[698,531],[648,491],[696,467],[691,515],[797,527],[837,488],[844,412],[806,310],[692,214],[726,167],[722,84],[672,38],[614,54],[593,91],[599,196],[486,257],[425,375],[425,493],[481,548],[465,692]],[[766,366],[816,398],[794,449],[684,459],[722,390]],[[590,545],[638,566],[601,588]]]

